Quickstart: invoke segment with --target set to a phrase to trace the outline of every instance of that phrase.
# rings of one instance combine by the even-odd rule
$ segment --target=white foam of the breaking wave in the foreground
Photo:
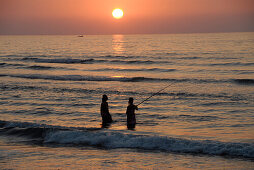
[[[219,141],[198,141],[166,136],[135,135],[114,131],[57,131],[50,132],[46,143],[99,146],[108,149],[134,148],[168,152],[226,155],[254,158],[254,145]]]

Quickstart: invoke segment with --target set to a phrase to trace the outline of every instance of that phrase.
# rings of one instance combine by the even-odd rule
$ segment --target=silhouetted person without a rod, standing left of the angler
[[[102,96],[102,102],[101,102],[101,117],[102,117],[102,125],[108,125],[109,123],[112,122],[112,117],[109,113],[108,110],[108,96],[107,95],[103,95]]]

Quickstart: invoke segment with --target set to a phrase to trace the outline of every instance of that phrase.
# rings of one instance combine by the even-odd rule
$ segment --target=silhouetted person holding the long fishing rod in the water
[[[127,128],[134,129],[136,126],[136,115],[135,110],[138,110],[138,107],[133,104],[133,98],[129,98],[129,105],[126,110],[127,115]]]

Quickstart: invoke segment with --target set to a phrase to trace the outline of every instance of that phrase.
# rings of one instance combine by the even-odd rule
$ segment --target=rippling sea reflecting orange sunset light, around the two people
[[[253,32],[0,36],[0,90],[0,169],[254,169]]]

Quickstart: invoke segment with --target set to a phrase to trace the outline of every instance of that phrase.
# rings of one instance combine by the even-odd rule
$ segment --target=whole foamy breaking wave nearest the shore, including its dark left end
[[[0,121],[0,127],[2,128],[0,134],[41,138],[44,144],[254,158],[254,145],[250,143],[200,141],[101,128],[67,128],[7,121]]]

